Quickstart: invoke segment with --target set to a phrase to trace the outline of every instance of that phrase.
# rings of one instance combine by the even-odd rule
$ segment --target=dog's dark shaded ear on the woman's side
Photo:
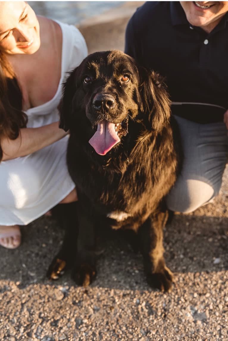
[[[69,72],[65,84],[63,85],[63,95],[59,103],[58,109],[60,113],[59,128],[68,131],[70,128],[70,115],[72,110],[72,100],[76,90],[75,74],[77,68]]]

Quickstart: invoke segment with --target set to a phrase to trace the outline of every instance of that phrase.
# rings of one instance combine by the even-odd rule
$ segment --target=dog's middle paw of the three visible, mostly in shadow
[[[96,275],[96,269],[88,264],[76,266],[72,271],[73,280],[77,285],[81,286],[88,286],[91,284]]]

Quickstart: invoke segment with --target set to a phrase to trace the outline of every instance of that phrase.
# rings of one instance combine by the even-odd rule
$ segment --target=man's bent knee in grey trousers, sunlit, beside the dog
[[[167,196],[167,207],[181,213],[193,212],[216,196],[219,188],[199,180],[186,180],[181,188],[178,184],[172,188]]]

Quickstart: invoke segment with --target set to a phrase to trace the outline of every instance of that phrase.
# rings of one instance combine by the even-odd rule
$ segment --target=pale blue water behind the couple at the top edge
[[[28,1],[37,15],[79,25],[89,17],[122,5],[125,1]]]

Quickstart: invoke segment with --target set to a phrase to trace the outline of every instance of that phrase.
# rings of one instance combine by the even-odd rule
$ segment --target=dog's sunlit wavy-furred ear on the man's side
[[[148,72],[143,68],[140,74],[142,75],[141,96],[145,112],[149,115],[152,129],[160,131],[165,121],[170,118],[171,101],[163,80],[156,72]]]

